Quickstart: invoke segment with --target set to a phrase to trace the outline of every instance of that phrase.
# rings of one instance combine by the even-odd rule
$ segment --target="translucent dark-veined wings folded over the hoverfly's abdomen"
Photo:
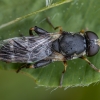
[[[15,37],[1,41],[0,60],[33,63],[52,54],[50,36]]]

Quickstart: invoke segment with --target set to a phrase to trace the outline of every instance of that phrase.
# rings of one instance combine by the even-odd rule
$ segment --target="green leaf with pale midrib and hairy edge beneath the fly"
[[[26,36],[32,26],[55,32],[46,22],[46,17],[49,17],[55,26],[62,26],[65,31],[79,32],[82,29],[88,29],[100,37],[99,4],[99,0],[73,0],[71,2],[70,0],[41,0],[41,2],[40,0],[34,0],[34,2],[33,0],[12,2],[1,0],[0,39],[17,37],[20,33]],[[88,59],[100,68],[100,53]],[[15,71],[19,67],[20,64],[0,63],[0,69],[7,71]],[[21,72],[32,77],[39,86],[58,87],[63,69],[61,62],[54,62],[44,68],[23,69]],[[85,61],[76,59],[68,61],[62,86],[66,88],[88,86],[99,80],[100,73],[94,71]]]

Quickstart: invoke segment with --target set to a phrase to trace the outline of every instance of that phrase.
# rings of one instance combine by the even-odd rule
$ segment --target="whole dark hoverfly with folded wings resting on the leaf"
[[[59,32],[50,33],[35,26],[30,28],[30,36],[3,40],[0,44],[0,60],[11,63],[27,63],[27,66],[23,66],[26,68],[40,68],[54,61],[62,61],[64,70],[60,78],[60,86],[67,68],[67,60],[81,58],[94,70],[100,72],[85,57],[85,55],[92,57],[99,51],[98,36],[92,31],[82,30],[72,33],[63,31],[61,27],[55,29],[57,28],[60,29]],[[35,31],[37,36],[32,31]],[[33,62],[34,64],[32,64]]]

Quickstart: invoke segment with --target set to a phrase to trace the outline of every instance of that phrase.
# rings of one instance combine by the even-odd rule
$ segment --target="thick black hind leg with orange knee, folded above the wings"
[[[45,31],[42,28],[39,28],[37,26],[32,27],[32,28],[29,29],[29,35],[30,36],[33,36],[33,32],[32,31],[35,31],[38,35],[45,35],[45,34],[48,33],[47,31]]]

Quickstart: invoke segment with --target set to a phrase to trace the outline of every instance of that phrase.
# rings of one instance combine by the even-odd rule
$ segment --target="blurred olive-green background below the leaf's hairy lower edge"
[[[0,71],[0,100],[100,100],[100,84],[54,90],[38,87],[25,75]]]

